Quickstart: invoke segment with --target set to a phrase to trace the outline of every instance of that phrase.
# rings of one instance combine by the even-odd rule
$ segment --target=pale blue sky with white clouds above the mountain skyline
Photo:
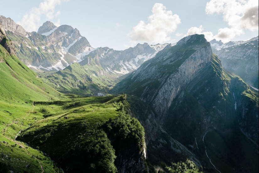
[[[192,34],[223,43],[258,36],[258,0],[8,0],[1,7],[0,15],[28,32],[46,21],[66,24],[94,48],[175,43]]]

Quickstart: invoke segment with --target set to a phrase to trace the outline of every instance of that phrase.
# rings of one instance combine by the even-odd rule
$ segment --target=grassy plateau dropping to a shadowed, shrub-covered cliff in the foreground
[[[125,99],[121,95],[35,102],[35,116],[45,118],[17,139],[50,155],[66,172],[117,172],[121,162],[116,157],[124,145],[135,148],[131,155],[143,152],[144,145],[144,129],[128,115]]]

